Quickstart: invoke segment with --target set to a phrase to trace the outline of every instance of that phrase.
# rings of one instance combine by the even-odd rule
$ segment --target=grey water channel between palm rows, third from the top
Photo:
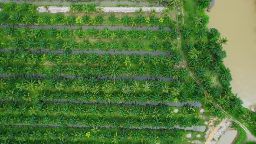
[[[15,49],[0,49],[0,52],[9,52],[10,50],[15,50]],[[64,53],[64,50],[46,50],[46,49],[42,49],[42,50],[36,50],[36,49],[32,49],[32,50],[27,50],[28,52],[44,52],[44,53],[58,53],[58,54],[62,54]],[[132,54],[137,54],[139,56],[144,56],[146,54],[151,54],[152,56],[172,56],[173,53],[172,52],[163,52],[163,51],[157,51],[157,52],[152,52],[152,51],[127,51],[127,50],[72,50],[71,52],[72,54],[79,54],[79,53],[95,53],[95,54],[99,54],[99,55],[104,55],[104,54],[111,54],[111,55],[119,55],[119,54],[124,54],[125,56],[129,56]]]

